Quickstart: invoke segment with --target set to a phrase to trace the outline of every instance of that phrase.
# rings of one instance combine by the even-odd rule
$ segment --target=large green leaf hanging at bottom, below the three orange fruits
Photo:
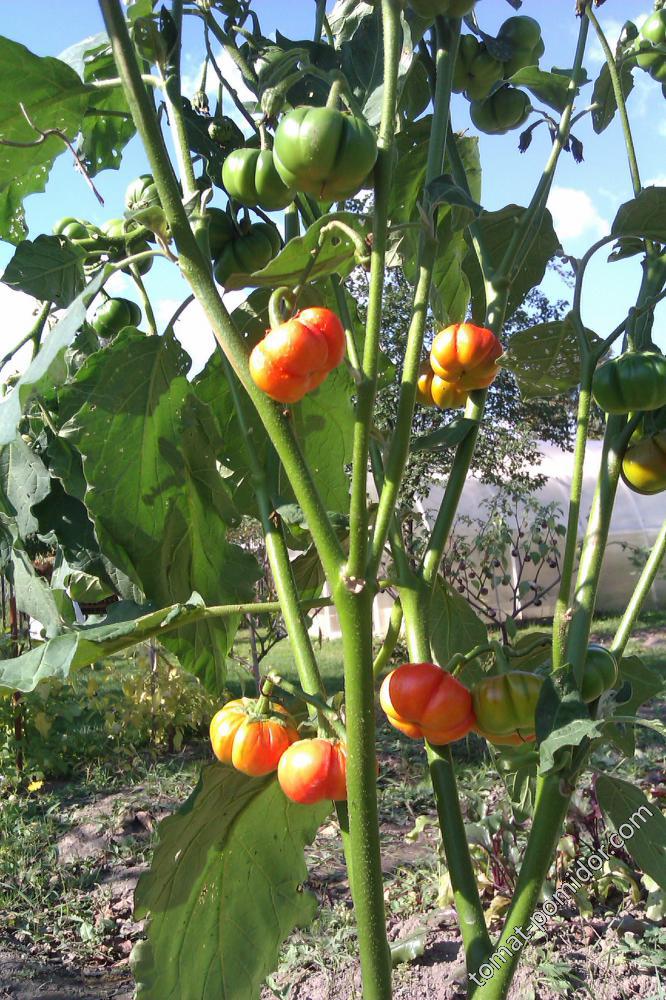
[[[274,777],[205,767],[137,886],[137,1000],[258,1000],[282,942],[314,917],[303,848],[329,809],[294,805]]]

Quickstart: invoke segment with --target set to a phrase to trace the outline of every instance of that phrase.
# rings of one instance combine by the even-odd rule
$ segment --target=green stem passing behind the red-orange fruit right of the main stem
[[[422,613],[428,599],[429,593],[425,584],[416,578],[412,587],[400,588],[400,601],[405,613],[407,648],[410,661],[414,663],[428,662],[431,659],[429,622],[428,617]],[[451,748],[435,747],[427,743],[426,756],[467,967],[476,969],[490,952],[491,943],[460,811]]]

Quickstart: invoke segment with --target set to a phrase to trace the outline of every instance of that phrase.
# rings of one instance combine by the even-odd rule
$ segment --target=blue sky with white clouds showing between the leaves
[[[333,3],[329,3],[329,8]],[[310,37],[312,32],[314,2],[291,0],[289,4],[275,0],[254,0],[253,4],[265,34],[270,35],[276,26],[291,38]],[[542,24],[546,55],[541,60],[544,68],[571,66],[576,44],[578,22],[573,15],[573,0],[525,0],[520,13],[535,16]],[[622,14],[618,17],[617,5],[608,3],[598,9],[598,16],[607,30],[611,45],[625,18],[644,19],[650,4],[639,0],[624,0]],[[287,11],[287,14],[285,14]],[[477,13],[481,26],[494,34],[501,22],[513,13],[506,0],[479,0]],[[189,20],[189,19],[188,19]],[[194,20],[194,19],[192,19]],[[192,25],[192,22],[190,22]],[[2,34],[22,42],[39,55],[58,55],[80,39],[103,30],[101,15],[93,0],[22,0],[20,4],[3,4]],[[195,89],[201,65],[201,53],[194,32],[189,28],[185,42],[183,72],[186,93]],[[594,38],[588,46],[586,66],[594,79],[601,67],[601,51]],[[666,184],[666,116],[664,100],[659,86],[647,74],[635,75],[636,87],[629,99],[629,113],[637,147],[641,175],[644,183]],[[582,108],[591,99],[591,86],[583,91]],[[536,102],[535,102],[536,103]],[[456,98],[453,122],[456,129],[470,129],[467,102]],[[558,168],[555,188],[551,198],[556,229],[565,250],[581,255],[587,247],[604,235],[617,208],[631,198],[631,185],[624,147],[617,120],[607,131],[596,136],[589,117],[575,129],[585,148],[585,161],[577,165],[570,156],[563,156]],[[545,128],[536,130],[528,152],[516,155],[517,133],[507,136],[481,136],[481,154],[484,165],[482,202],[485,208],[495,209],[508,202],[525,204],[538,180],[548,154],[549,139]],[[77,215],[94,223],[101,223],[112,215],[121,214],[122,196],[128,181],[146,170],[146,162],[139,143],[133,141],[127,150],[120,171],[106,171],[96,178],[106,208],[97,205],[92,193],[72,167],[67,155],[61,156],[53,169],[45,195],[36,195],[26,201],[31,235],[49,232],[57,218]],[[222,203],[222,201],[220,201]],[[0,244],[0,266],[11,256],[12,249]],[[166,322],[181,298],[187,294],[175,269],[158,263],[148,276],[149,290],[158,300],[158,318]],[[633,261],[606,264],[603,254],[597,256],[589,269],[583,297],[584,319],[600,335],[609,332],[623,318],[640,282],[638,258]],[[548,280],[545,290],[551,295],[563,291],[555,279]],[[127,279],[120,278],[116,291],[130,293]],[[18,340],[29,323],[29,303],[19,302],[18,297],[8,298],[5,286],[0,285],[0,302],[5,319],[16,331],[12,339]],[[666,350],[666,306],[662,304],[655,324],[656,340]],[[7,330],[7,326],[5,326]],[[5,335],[10,336],[9,332]],[[212,338],[196,307],[189,310],[180,325],[179,336],[199,367],[212,347]],[[3,337],[3,341],[5,337]],[[7,339],[7,343],[10,340]],[[3,346],[3,350],[6,350]]]

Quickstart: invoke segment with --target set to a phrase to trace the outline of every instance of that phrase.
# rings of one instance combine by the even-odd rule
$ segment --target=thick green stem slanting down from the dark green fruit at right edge
[[[606,424],[599,479],[587,522],[567,636],[567,662],[581,685],[592,616],[601,575],[610,519],[626,447],[627,418],[610,416]]]

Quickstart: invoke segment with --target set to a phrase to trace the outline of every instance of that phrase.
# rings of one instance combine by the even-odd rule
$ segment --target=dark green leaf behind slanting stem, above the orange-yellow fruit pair
[[[525,209],[519,205],[505,205],[497,212],[482,212],[477,220],[483,233],[488,263],[492,268],[501,264],[524,212]],[[515,312],[532,288],[541,284],[546,265],[559,246],[551,214],[546,209],[533,239],[528,239],[523,247],[517,270],[512,276],[507,316]],[[486,293],[476,253],[471,247],[465,258],[465,271],[472,290],[472,318],[475,323],[482,323],[486,314]]]

